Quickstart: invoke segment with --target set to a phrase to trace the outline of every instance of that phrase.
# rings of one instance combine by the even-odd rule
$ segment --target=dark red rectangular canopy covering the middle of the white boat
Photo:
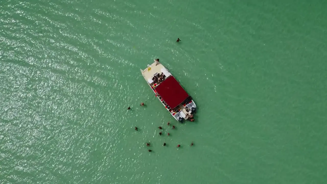
[[[173,76],[156,87],[156,91],[170,108],[175,108],[189,96]]]

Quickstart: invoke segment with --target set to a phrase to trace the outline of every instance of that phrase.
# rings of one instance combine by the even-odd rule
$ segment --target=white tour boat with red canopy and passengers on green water
[[[195,102],[159,59],[148,64],[146,69],[141,69],[141,73],[155,96],[175,120],[194,121],[193,115],[197,108]]]

